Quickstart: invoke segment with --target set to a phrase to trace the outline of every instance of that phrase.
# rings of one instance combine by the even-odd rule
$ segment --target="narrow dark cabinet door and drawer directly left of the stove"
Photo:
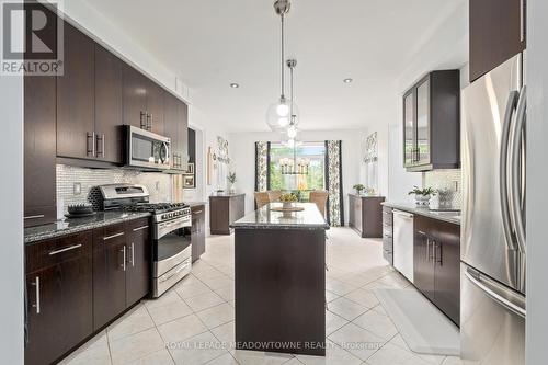
[[[148,218],[129,221],[127,232],[126,306],[150,293],[151,241]]]

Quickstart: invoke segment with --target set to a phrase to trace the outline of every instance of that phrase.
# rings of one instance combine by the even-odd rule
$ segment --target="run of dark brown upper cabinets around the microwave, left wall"
[[[64,46],[64,75],[24,77],[26,227],[56,218],[56,163],[124,163],[125,124],[170,137],[172,168],[187,153],[183,101],[66,21]]]

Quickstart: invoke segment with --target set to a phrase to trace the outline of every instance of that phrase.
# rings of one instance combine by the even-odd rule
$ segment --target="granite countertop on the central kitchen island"
[[[230,228],[243,229],[329,229],[313,203],[297,203],[302,212],[292,213],[284,217],[282,212],[273,212],[271,207],[282,207],[282,203],[267,204],[230,225]]]

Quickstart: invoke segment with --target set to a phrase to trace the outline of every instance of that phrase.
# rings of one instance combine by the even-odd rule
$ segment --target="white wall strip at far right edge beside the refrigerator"
[[[527,364],[546,364],[548,337],[548,1],[527,1]]]

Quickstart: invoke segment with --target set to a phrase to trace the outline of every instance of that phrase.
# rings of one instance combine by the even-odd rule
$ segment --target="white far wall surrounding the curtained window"
[[[246,212],[254,209],[253,192],[255,190],[255,141],[281,141],[277,133],[238,133],[229,135],[232,170],[238,182],[237,191],[246,193]],[[299,139],[304,141],[342,140],[342,170],[344,193],[344,218],[349,218],[349,197],[352,186],[361,182],[361,164],[363,159],[363,130],[317,130],[301,132]]]

